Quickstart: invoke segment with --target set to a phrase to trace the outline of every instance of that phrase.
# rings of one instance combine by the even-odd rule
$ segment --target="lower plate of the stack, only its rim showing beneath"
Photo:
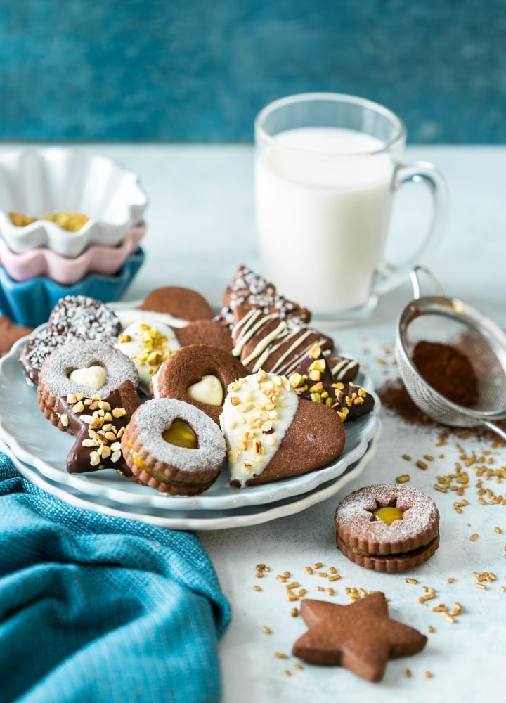
[[[358,461],[352,463],[346,468],[344,474],[337,481],[330,481],[323,486],[318,486],[317,489],[309,491],[307,494],[296,496],[294,498],[285,498],[285,500],[271,503],[271,505],[251,505],[247,508],[239,508],[238,510],[209,510],[209,511],[192,511],[192,510],[157,510],[155,508],[145,508],[132,506],[126,508],[123,505],[115,503],[109,504],[103,498],[90,497],[79,493],[76,489],[70,486],[63,486],[57,482],[47,479],[41,475],[37,469],[23,463],[18,457],[13,456],[12,460],[20,474],[39,486],[39,488],[48,493],[60,498],[69,505],[76,508],[84,508],[93,510],[103,515],[112,515],[115,517],[124,517],[131,520],[139,520],[156,527],[166,527],[169,529],[181,530],[216,530],[216,529],[231,529],[233,527],[250,527],[252,525],[261,524],[277,520],[279,517],[287,517],[294,515],[297,512],[311,508],[311,505],[316,505],[327,498],[332,498],[351,480],[360,475],[368,461],[375,455],[377,441],[381,434],[381,425],[378,423],[375,436],[370,440],[367,449]],[[0,441],[0,449],[1,447]],[[6,451],[7,448],[3,449]]]

